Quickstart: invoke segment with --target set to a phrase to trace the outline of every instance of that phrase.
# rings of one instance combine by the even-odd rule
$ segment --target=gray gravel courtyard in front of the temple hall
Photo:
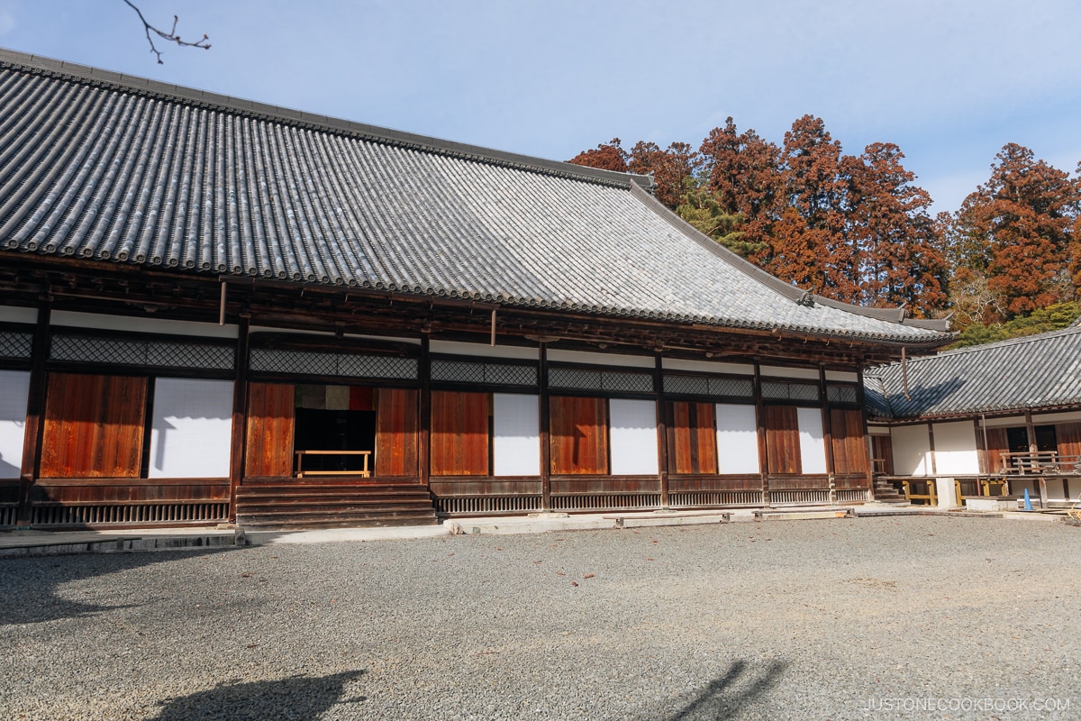
[[[926,517],[3,559],[0,719],[1077,719],[1079,569]]]

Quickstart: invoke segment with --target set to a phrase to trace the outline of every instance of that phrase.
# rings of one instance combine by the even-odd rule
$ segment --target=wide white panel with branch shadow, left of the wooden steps
[[[155,380],[150,478],[227,477],[231,439],[231,380]]]

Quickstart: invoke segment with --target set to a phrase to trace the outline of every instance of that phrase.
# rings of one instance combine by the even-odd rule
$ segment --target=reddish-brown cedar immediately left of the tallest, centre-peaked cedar
[[[729,118],[724,128],[710,131],[700,152],[706,190],[716,199],[718,213],[742,221],[739,244],[730,248],[761,262],[769,256],[773,226],[784,199],[780,149],[753,130],[737,132]]]

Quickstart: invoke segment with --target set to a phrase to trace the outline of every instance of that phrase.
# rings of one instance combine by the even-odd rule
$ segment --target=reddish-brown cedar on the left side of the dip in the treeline
[[[926,317],[946,305],[943,229],[932,217],[931,196],[912,185],[892,143],[872,143],[859,158],[842,159],[849,182],[850,245],[859,259],[858,302],[905,306]]]

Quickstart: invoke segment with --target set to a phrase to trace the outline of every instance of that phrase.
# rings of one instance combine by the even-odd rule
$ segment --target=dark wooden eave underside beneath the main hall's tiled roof
[[[99,264],[75,259],[9,259],[0,268],[0,292],[31,305],[48,299],[56,308],[85,311],[216,321],[224,282],[228,322],[246,317],[253,324],[337,333],[430,334],[486,343],[495,309],[496,334],[503,342],[550,337],[580,347],[844,366],[884,363],[900,356],[896,344],[779,329],[665,323],[244,277],[177,276],[125,266],[112,266],[103,273]],[[909,346],[908,350],[919,349]]]

